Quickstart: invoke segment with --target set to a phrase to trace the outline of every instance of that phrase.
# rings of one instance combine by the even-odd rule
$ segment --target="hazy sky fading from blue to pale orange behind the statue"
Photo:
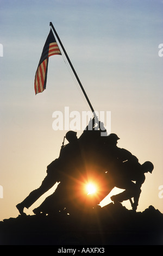
[[[154,164],[137,210],[153,205],[163,212],[162,8],[160,0],[0,0],[0,220],[18,216],[15,205],[40,186],[47,165],[59,155],[66,131],[52,129],[53,112],[64,113],[66,106],[79,113],[90,110],[62,56],[49,59],[47,89],[35,95],[34,76],[49,22],[93,108],[111,111],[111,132],[121,138],[118,147],[140,163]],[[26,213],[32,214],[53,191]],[[130,208],[129,202],[123,205]]]

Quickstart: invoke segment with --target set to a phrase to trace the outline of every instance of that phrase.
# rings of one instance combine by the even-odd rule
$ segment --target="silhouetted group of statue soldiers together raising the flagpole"
[[[24,208],[28,209],[56,182],[60,183],[55,192],[33,210],[34,214],[77,213],[85,208],[95,208],[114,187],[125,190],[111,197],[114,203],[129,199],[133,210],[137,209],[145,173],[152,173],[153,164],[149,161],[140,164],[128,150],[118,148],[120,138],[115,133],[101,137],[100,125],[95,129],[95,119],[92,127],[90,130],[88,125],[79,138],[77,132],[66,133],[68,144],[62,144],[58,159],[47,167],[47,176],[41,186],[16,205],[21,215]],[[84,196],[82,186],[88,176],[98,180],[98,196]],[[131,198],[134,198],[134,203]]]

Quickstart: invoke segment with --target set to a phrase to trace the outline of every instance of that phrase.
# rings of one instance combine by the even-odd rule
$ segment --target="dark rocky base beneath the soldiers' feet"
[[[0,222],[0,245],[163,245],[163,214],[111,203],[78,215],[19,215]]]

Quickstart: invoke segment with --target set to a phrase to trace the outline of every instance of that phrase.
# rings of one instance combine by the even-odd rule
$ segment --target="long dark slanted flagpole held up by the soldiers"
[[[95,113],[95,111],[94,111],[94,109],[93,109],[93,107],[92,107],[92,105],[91,105],[91,102],[90,102],[89,98],[88,98],[87,95],[86,95],[86,92],[85,92],[85,90],[84,90],[84,88],[83,88],[83,86],[82,86],[82,83],[80,82],[79,77],[78,77],[76,71],[75,71],[74,68],[73,68],[73,65],[72,65],[72,63],[71,63],[71,60],[69,59],[69,57],[68,57],[68,55],[67,55],[67,53],[66,53],[66,51],[65,51],[65,48],[64,48],[64,46],[62,45],[62,42],[61,42],[61,40],[60,40],[60,38],[59,38],[57,32],[55,31],[55,28],[54,28],[52,22],[50,22],[50,26],[52,27],[52,29],[53,29],[53,31],[54,31],[54,34],[57,36],[57,39],[58,39],[58,41],[59,41],[59,44],[60,44],[60,46],[62,47],[62,50],[63,50],[64,53],[65,53],[65,56],[66,56],[66,58],[67,58],[67,60],[68,60],[68,63],[70,64],[70,66],[71,66],[71,68],[72,68],[72,71],[73,71],[74,75],[76,76],[76,79],[77,79],[77,81],[78,81],[78,83],[79,83],[79,86],[80,86],[80,88],[82,89],[82,92],[83,92],[83,94],[84,94],[84,96],[85,96],[85,98],[86,98],[86,100],[87,100],[87,103],[89,104],[89,106],[90,106],[90,108],[91,108],[91,111],[93,112],[93,115],[95,116],[95,119],[98,121],[97,115],[96,115],[96,113]]]

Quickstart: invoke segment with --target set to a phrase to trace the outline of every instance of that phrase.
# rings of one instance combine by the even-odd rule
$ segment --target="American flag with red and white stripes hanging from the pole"
[[[61,52],[51,29],[43,46],[40,62],[35,74],[35,94],[42,93],[46,89],[48,58],[56,54],[61,55]]]

